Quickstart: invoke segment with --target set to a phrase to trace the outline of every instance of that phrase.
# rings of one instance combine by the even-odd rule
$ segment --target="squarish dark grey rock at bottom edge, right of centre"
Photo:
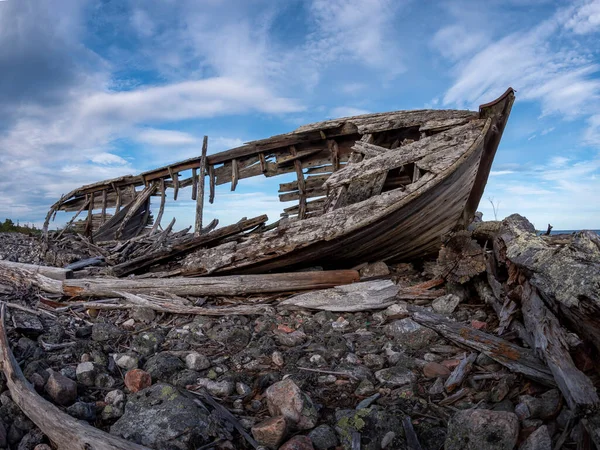
[[[512,450],[519,437],[513,413],[469,409],[457,412],[448,425],[445,450]]]

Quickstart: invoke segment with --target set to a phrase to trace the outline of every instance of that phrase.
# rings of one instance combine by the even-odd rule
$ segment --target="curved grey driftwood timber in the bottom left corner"
[[[150,450],[79,421],[62,412],[35,392],[10,350],[0,308],[0,357],[12,400],[59,450]]]

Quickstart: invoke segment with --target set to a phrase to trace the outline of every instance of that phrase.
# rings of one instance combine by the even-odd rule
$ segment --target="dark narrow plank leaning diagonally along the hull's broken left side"
[[[185,254],[203,245],[215,243],[228,236],[250,230],[261,223],[266,222],[267,220],[268,217],[266,215],[262,215],[234,225],[219,228],[218,230],[206,235],[194,236],[191,239],[185,240],[184,242],[176,243],[170,248],[160,249],[158,251],[151,252],[138,258],[134,258],[130,261],[118,264],[112,268],[112,272],[118,277],[128,275],[154,264],[158,264],[166,259]]]

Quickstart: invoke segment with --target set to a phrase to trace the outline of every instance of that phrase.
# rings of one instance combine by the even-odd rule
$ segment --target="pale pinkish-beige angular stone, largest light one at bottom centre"
[[[311,399],[290,378],[279,381],[266,390],[271,416],[285,416],[298,430],[308,430],[317,424],[317,410]]]

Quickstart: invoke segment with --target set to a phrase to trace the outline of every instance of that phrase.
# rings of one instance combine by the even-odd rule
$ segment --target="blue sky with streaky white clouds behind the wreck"
[[[2,0],[0,218],[39,224],[61,194],[197,155],[204,134],[217,152],[512,86],[479,209],[600,228],[599,34],[600,0]],[[276,219],[275,185],[222,186],[208,218]],[[191,201],[174,215],[191,224]]]

